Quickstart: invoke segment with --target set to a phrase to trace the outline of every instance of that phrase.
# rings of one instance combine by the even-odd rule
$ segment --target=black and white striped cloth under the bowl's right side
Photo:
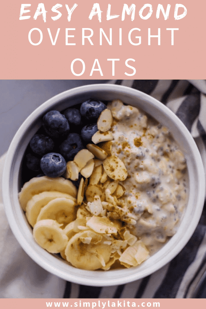
[[[205,80],[111,80],[166,104],[191,132],[206,170]],[[67,282],[64,298],[206,298],[206,203],[200,222],[182,251],[157,272],[120,286]]]

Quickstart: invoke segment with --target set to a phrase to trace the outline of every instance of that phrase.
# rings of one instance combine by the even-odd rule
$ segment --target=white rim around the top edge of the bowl
[[[182,239],[179,240],[179,243],[178,243],[179,246],[175,247],[175,250],[172,251],[172,254],[170,252],[170,254],[167,254],[166,256],[162,256],[162,259],[159,262],[155,262],[155,265],[152,265],[153,266],[152,268],[149,267],[147,270],[142,270],[142,272],[139,275],[137,275],[135,273],[129,273],[128,272],[128,275],[124,276],[123,278],[118,278],[118,279],[116,279],[115,277],[114,278],[111,278],[111,277],[102,278],[99,275],[98,275],[99,277],[97,276],[97,278],[90,279],[89,273],[91,271],[83,271],[85,273],[85,276],[80,277],[80,275],[76,275],[72,272],[70,274],[68,274],[68,272],[63,271],[63,270],[59,270],[59,269],[55,268],[53,265],[50,265],[47,262],[45,262],[45,260],[42,258],[42,256],[38,255],[36,253],[36,251],[28,245],[26,238],[24,237],[24,235],[22,235],[22,233],[19,229],[18,223],[16,222],[15,215],[12,211],[11,198],[10,198],[10,191],[11,191],[10,174],[11,174],[12,166],[14,164],[13,162],[15,160],[15,158],[14,158],[15,157],[15,149],[16,149],[16,146],[19,143],[20,137],[23,136],[23,134],[27,130],[30,123],[32,121],[34,121],[34,118],[35,118],[35,121],[36,121],[38,117],[40,117],[43,113],[45,113],[45,110],[49,110],[49,109],[51,110],[51,107],[53,105],[60,103],[64,99],[68,98],[68,96],[72,97],[74,95],[81,95],[81,94],[85,95],[86,93],[95,92],[95,91],[96,92],[97,91],[106,91],[106,92],[118,91],[120,93],[123,93],[124,95],[129,95],[129,96],[133,96],[133,97],[136,96],[136,100],[137,100],[137,96],[138,97],[141,96],[141,99],[143,101],[149,103],[152,106],[158,107],[158,109],[162,113],[166,113],[168,116],[171,117],[171,119],[174,119],[173,121],[175,121],[178,128],[182,130],[182,132],[184,133],[184,135],[185,135],[185,137],[188,141],[188,144],[193,149],[193,152],[195,154],[195,156],[194,156],[195,163],[198,167],[197,176],[198,176],[198,179],[199,179],[199,183],[198,183],[199,191],[196,192],[196,194],[197,194],[197,205],[199,205],[199,207],[196,207],[195,216],[193,216],[193,218],[191,218],[190,232],[187,235],[184,235],[182,237]],[[43,110],[44,110],[44,112],[42,112]],[[198,148],[195,144],[194,139],[192,138],[190,132],[187,130],[185,125],[182,123],[182,121],[169,108],[167,108],[164,104],[162,104],[158,100],[154,99],[150,95],[147,95],[147,94],[145,94],[141,91],[138,91],[138,90],[130,88],[130,87],[125,87],[125,86],[121,86],[121,85],[113,85],[113,84],[92,84],[92,85],[75,87],[73,89],[70,89],[70,90],[61,92],[60,94],[55,95],[54,97],[48,99],[46,102],[41,104],[38,108],[36,108],[36,110],[33,111],[30,114],[30,116],[28,116],[27,119],[20,126],[20,128],[18,129],[17,133],[15,134],[15,136],[14,136],[14,138],[13,138],[11,144],[10,144],[10,147],[7,151],[7,155],[6,155],[6,159],[5,159],[5,165],[4,165],[4,170],[3,170],[3,179],[4,179],[4,181],[2,182],[2,193],[3,193],[4,205],[6,205],[6,207],[5,207],[6,216],[7,216],[7,219],[8,219],[8,222],[10,224],[10,227],[11,227],[13,234],[15,235],[16,239],[18,240],[18,242],[20,243],[20,245],[24,249],[24,251],[37,264],[39,264],[41,267],[43,267],[44,269],[46,269],[50,273],[53,273],[54,275],[57,275],[58,277],[61,277],[65,280],[67,280],[67,281],[72,281],[72,282],[75,282],[75,283],[78,283],[78,284],[85,284],[85,285],[90,285],[90,286],[111,286],[111,285],[124,284],[124,283],[128,283],[128,282],[131,282],[131,281],[135,281],[137,279],[141,279],[143,277],[150,275],[151,273],[155,272],[156,270],[160,269],[162,266],[164,266],[168,262],[170,262],[170,260],[172,260],[174,258],[174,256],[176,256],[181,251],[181,249],[185,246],[185,244],[187,243],[187,241],[190,239],[191,235],[193,234],[193,232],[194,232],[194,230],[195,230],[195,228],[198,224],[198,221],[200,219],[200,216],[201,216],[201,213],[202,213],[202,208],[203,208],[203,205],[204,205],[204,199],[205,199],[205,176],[204,176],[204,167],[203,167],[202,159],[201,159],[199,150],[198,150]],[[174,241],[177,238],[177,237],[175,237],[176,235],[177,234],[175,234],[172,237],[172,239],[174,239]],[[168,245],[168,242],[165,244],[165,246],[167,246],[167,245]],[[165,246],[163,248],[165,248]],[[44,249],[42,249],[42,250],[44,250]],[[162,252],[162,249],[160,249],[158,252],[160,252],[160,251]],[[155,255],[151,256],[149,259],[151,261],[154,260]],[[56,257],[52,256],[51,261],[53,261],[53,259],[56,259]],[[94,271],[92,271],[92,272],[94,272]],[[98,271],[95,271],[95,273],[97,273],[97,272]],[[117,270],[117,272],[118,272],[118,270]],[[100,273],[103,273],[103,272],[101,271]]]

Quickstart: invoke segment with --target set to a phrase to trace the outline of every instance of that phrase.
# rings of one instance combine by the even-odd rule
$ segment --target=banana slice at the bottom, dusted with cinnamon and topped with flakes
[[[65,248],[66,259],[80,269],[105,267],[111,256],[111,246],[103,244],[103,239],[103,236],[92,231],[77,233]]]

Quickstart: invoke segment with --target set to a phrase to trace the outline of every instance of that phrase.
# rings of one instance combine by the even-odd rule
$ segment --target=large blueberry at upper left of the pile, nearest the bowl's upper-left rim
[[[49,136],[55,138],[59,138],[69,132],[69,122],[58,111],[50,111],[44,115],[43,127]]]

